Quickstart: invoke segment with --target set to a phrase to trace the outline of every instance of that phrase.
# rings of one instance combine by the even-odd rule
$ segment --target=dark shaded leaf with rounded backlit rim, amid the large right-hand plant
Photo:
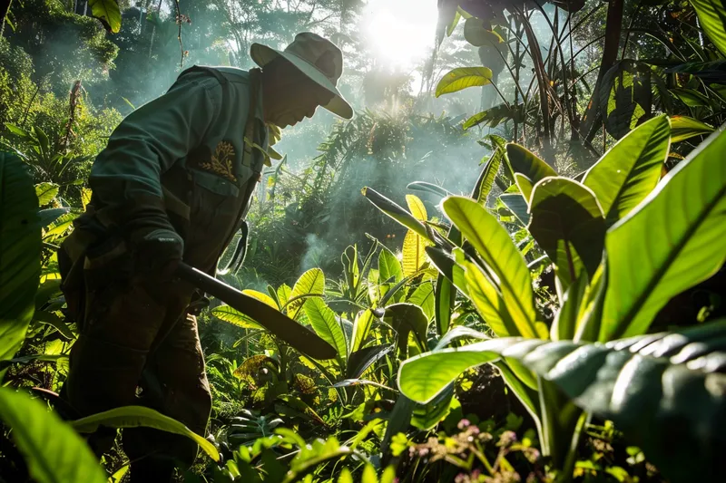
[[[605,220],[593,191],[568,178],[535,185],[527,228],[554,262],[564,288],[582,273],[592,276],[603,258]]]

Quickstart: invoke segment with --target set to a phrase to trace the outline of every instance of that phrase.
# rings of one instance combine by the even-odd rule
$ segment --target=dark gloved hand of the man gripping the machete
[[[150,271],[168,280],[184,255],[184,240],[171,227],[138,227],[132,231],[132,251],[139,271]]]

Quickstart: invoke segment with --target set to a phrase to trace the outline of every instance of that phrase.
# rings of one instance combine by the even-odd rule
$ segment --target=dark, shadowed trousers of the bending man
[[[196,318],[188,311],[193,287],[133,275],[128,256],[111,252],[84,256],[83,294],[74,299],[83,306],[81,334],[64,399],[83,416],[148,406],[203,435],[211,392]],[[111,449],[115,435],[105,428],[89,443],[100,455]],[[132,481],[168,481],[175,466],[191,465],[197,454],[194,442],[161,430],[125,429],[122,438]]]

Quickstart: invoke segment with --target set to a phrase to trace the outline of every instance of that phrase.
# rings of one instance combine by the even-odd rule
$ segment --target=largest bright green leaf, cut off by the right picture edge
[[[674,295],[726,260],[726,133],[712,134],[605,237],[600,341],[639,335]]]

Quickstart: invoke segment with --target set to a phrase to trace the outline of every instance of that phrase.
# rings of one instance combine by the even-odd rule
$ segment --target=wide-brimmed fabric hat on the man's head
[[[278,57],[286,59],[312,81],[333,94],[333,98],[323,106],[325,109],[344,119],[353,117],[353,108],[336,88],[338,79],[343,73],[343,53],[328,39],[311,32],[303,32],[297,34],[295,40],[285,47],[284,51],[272,49],[261,43],[252,43],[250,57],[260,67]]]

